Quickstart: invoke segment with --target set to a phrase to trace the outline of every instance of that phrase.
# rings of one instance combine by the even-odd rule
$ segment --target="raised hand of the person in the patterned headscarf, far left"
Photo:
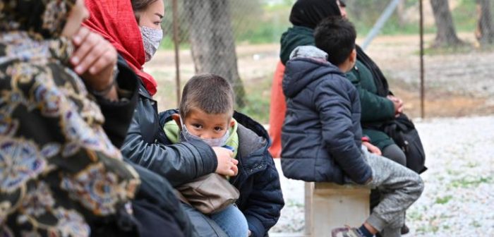
[[[73,70],[92,90],[101,91],[111,86],[117,60],[113,45],[85,27],[76,32],[72,42],[76,47],[70,59]],[[107,94],[107,99],[118,99],[115,86]]]

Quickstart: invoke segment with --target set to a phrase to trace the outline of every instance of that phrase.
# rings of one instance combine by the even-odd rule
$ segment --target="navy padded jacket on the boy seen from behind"
[[[344,73],[313,46],[287,62],[283,92],[282,169],[288,178],[365,183],[372,171],[361,153],[360,100]]]

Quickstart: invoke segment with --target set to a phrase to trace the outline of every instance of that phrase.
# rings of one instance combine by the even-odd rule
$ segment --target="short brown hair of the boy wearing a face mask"
[[[188,80],[183,87],[180,116],[185,119],[191,109],[206,114],[234,114],[234,90],[219,75],[200,74]]]

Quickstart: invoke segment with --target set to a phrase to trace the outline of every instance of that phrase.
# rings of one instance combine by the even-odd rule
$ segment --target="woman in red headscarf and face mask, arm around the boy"
[[[236,175],[237,169],[231,161],[230,150],[211,148],[204,142],[162,145],[171,142],[164,140],[167,138],[159,123],[157,102],[152,99],[157,83],[143,71],[143,64],[152,58],[162,39],[163,1],[85,0],[85,3],[91,17],[84,25],[111,42],[140,76],[138,105],[121,147],[122,154],[135,164],[167,178],[173,186],[214,172]],[[221,231],[212,221],[201,226],[211,226],[207,231]],[[200,233],[215,236],[205,230],[200,230]]]

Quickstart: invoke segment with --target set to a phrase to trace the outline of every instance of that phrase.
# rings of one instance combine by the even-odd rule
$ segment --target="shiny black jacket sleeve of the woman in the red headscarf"
[[[139,87],[139,100],[131,126],[121,147],[122,154],[135,164],[167,178],[172,186],[216,171],[216,154],[204,142],[163,145],[166,139],[159,125],[157,103],[144,85]]]

